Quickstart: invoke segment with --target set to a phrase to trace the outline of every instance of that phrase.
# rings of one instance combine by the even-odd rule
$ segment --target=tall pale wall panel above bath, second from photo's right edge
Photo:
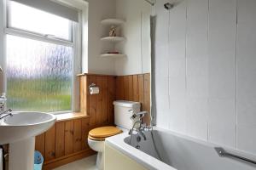
[[[236,0],[209,1],[209,140],[236,147]]]

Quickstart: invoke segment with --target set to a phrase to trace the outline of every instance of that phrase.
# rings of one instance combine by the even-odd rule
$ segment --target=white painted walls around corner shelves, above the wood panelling
[[[84,58],[82,72],[130,75],[150,72],[150,12],[151,6],[143,0],[86,0],[88,13],[88,59]],[[122,26],[125,42],[114,46],[102,42],[108,35],[108,26],[101,20],[121,18],[126,20]],[[142,42],[142,43],[141,43]],[[100,54],[116,48],[125,59],[104,59]],[[143,65],[143,66],[142,66]]]

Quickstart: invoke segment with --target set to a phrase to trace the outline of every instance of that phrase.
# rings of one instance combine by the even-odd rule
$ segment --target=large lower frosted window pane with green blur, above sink
[[[73,48],[7,36],[7,97],[14,111],[71,111]]]

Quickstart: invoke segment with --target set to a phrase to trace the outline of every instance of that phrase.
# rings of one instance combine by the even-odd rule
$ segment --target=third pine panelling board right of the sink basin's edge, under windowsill
[[[82,120],[76,119],[73,121],[73,152],[82,149]]]

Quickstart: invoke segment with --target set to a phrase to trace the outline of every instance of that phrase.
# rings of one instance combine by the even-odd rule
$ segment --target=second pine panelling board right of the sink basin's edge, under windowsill
[[[73,153],[73,121],[65,122],[65,156]]]

